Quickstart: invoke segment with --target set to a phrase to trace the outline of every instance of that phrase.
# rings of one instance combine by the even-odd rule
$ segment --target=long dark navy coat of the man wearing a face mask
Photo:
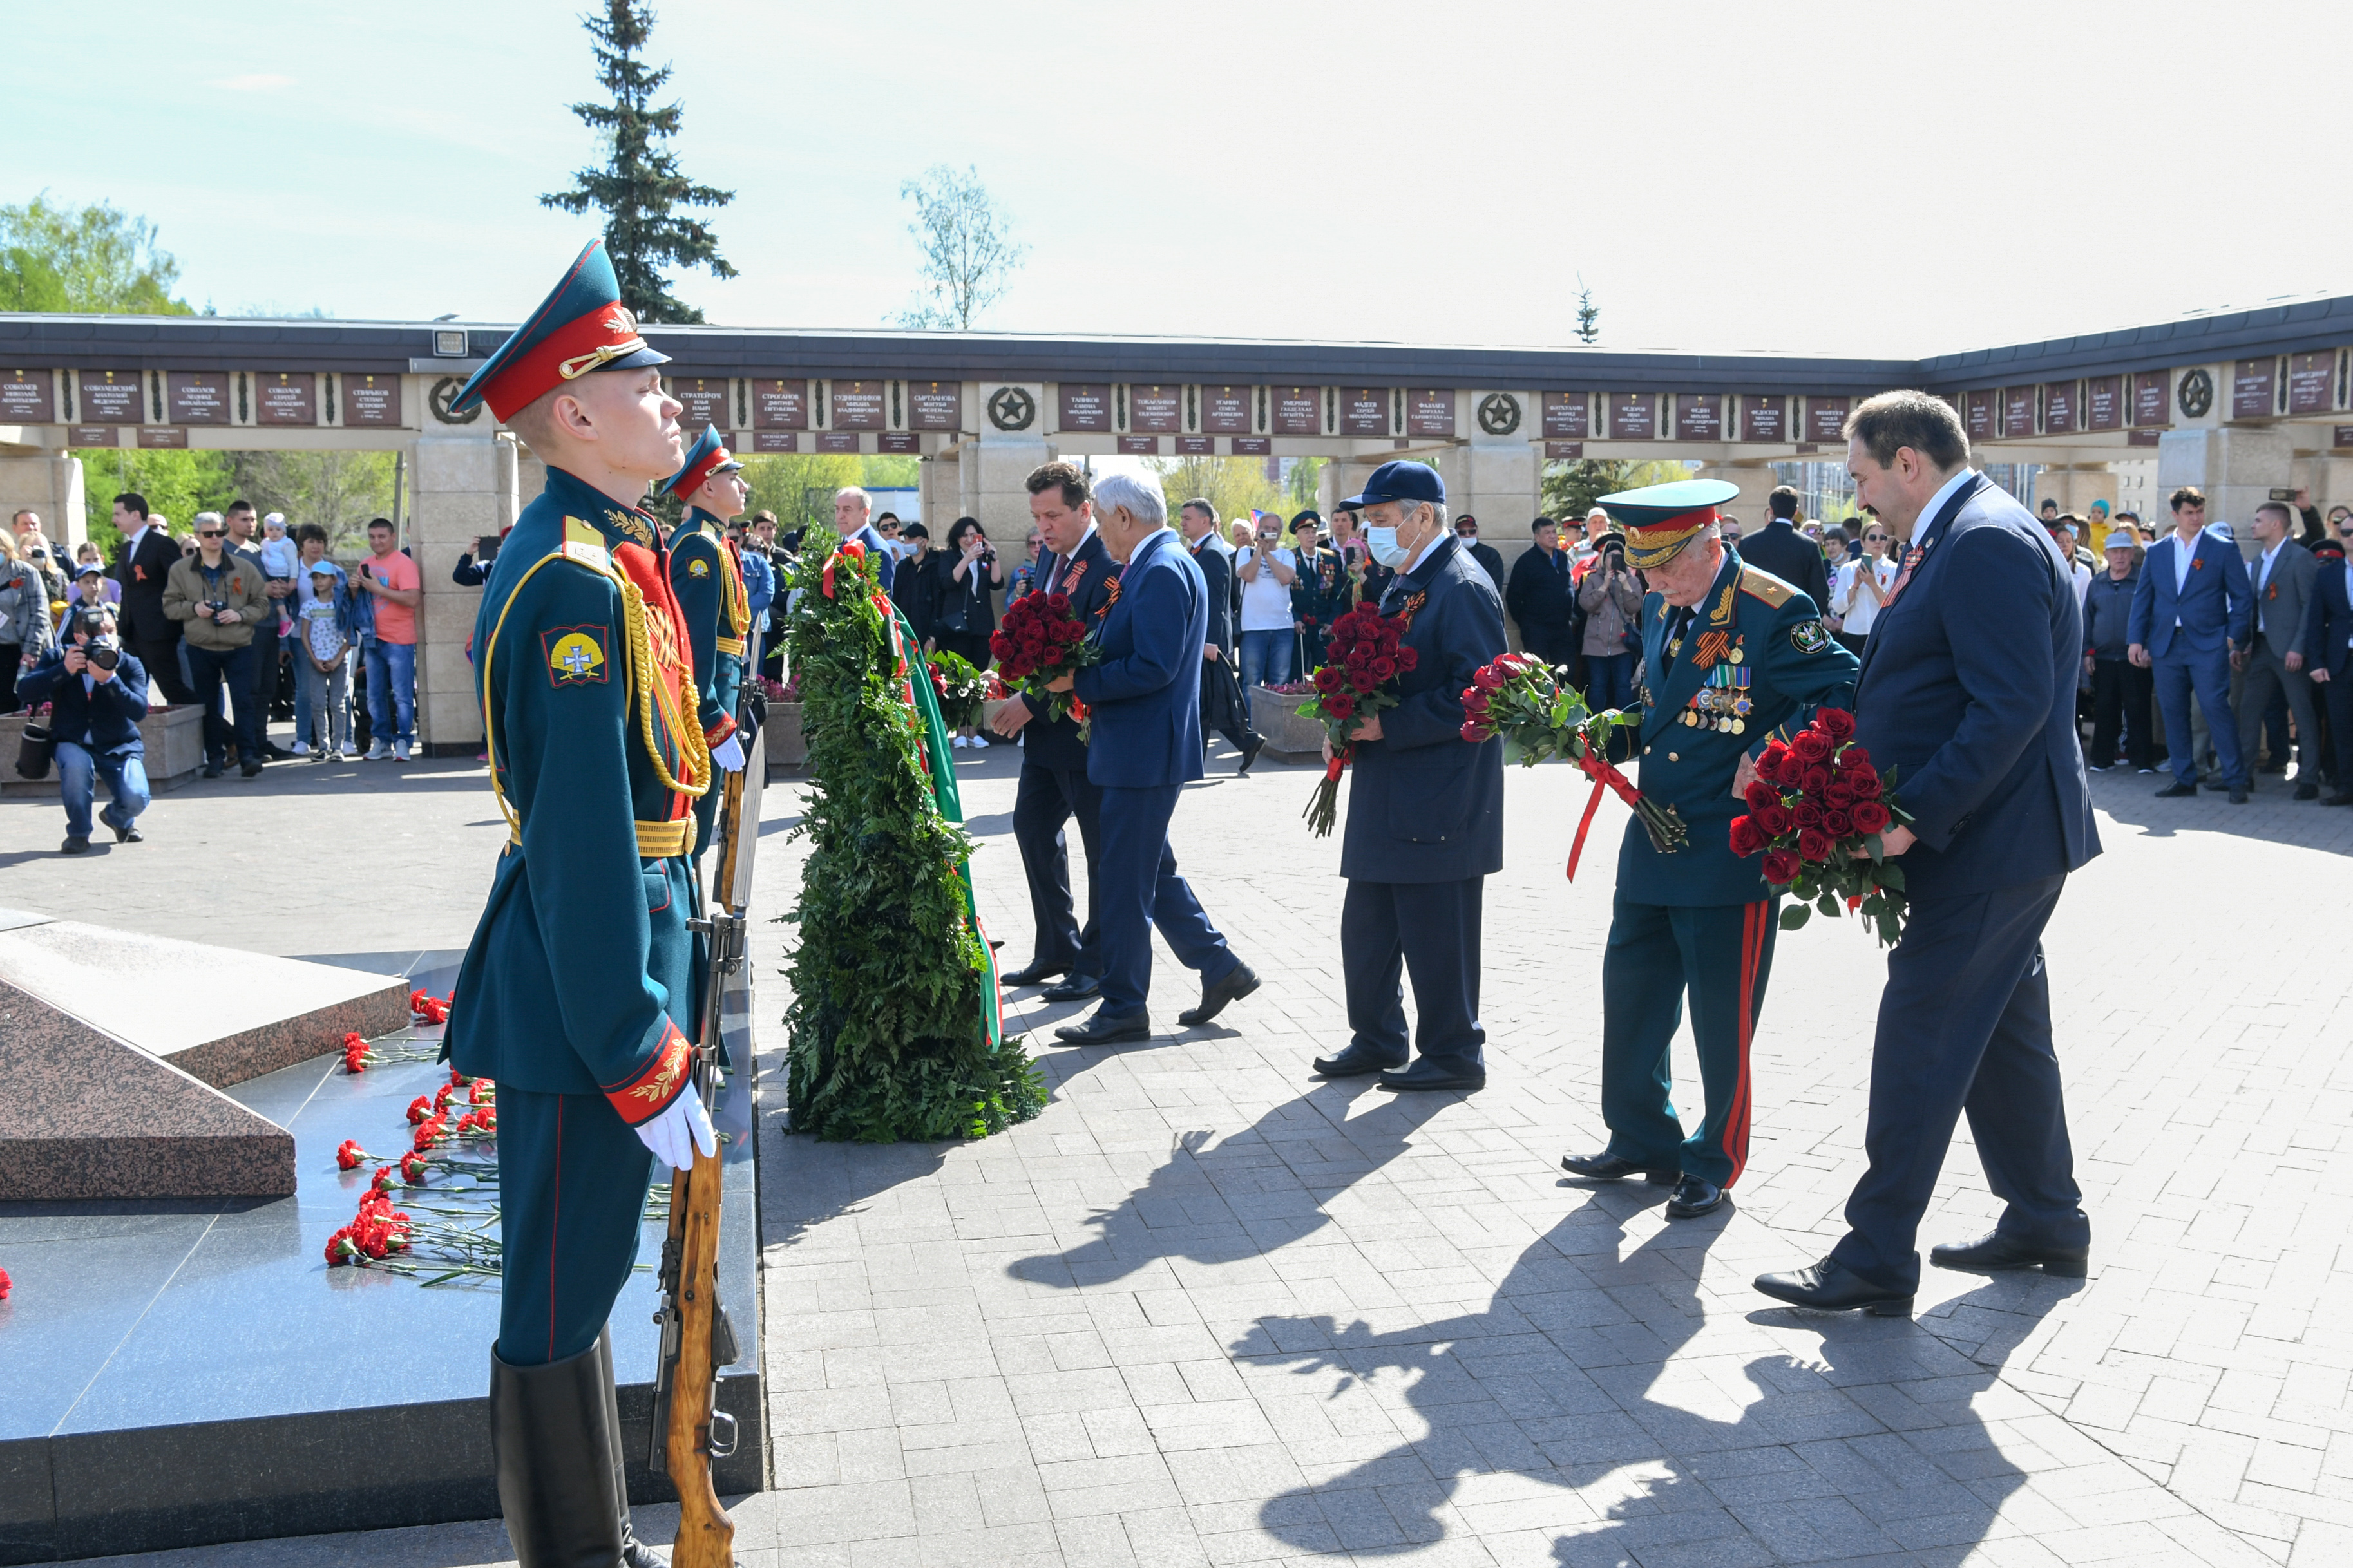
[[[1381,738],[1348,762],[1348,827],[1339,875],[1351,882],[1464,882],[1504,870],[1504,745],[1464,745],[1464,686],[1508,651],[1504,597],[1454,538],[1388,583],[1381,614],[1421,595]]]

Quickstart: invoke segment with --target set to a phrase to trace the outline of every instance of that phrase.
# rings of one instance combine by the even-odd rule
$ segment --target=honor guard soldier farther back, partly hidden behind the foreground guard
[[[744,639],[751,637],[751,595],[744,590],[744,557],[727,538],[727,524],[744,515],[748,489],[744,463],[720,442],[718,425],[687,447],[687,465],[661,482],[661,491],[687,503],[671,529],[671,592],[687,618],[694,649],[694,719],[704,726],[711,762],[729,773],[744,766],[736,733],[736,696],[744,689]],[[694,858],[711,846],[711,818],[720,792],[694,802]]]

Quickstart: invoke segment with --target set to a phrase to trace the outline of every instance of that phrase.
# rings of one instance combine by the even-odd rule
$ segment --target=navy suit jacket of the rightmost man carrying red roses
[[[1854,738],[1882,773],[1897,769],[1894,797],[1918,818],[1906,891],[1953,898],[2071,872],[2099,853],[2075,741],[2073,569],[1984,477],[1913,543],[1925,555],[1871,623],[1854,684]]]

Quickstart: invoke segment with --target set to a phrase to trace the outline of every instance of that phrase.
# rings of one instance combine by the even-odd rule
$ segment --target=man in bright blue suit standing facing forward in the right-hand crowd
[[[2148,545],[2141,585],[2132,595],[2125,656],[2158,670],[2158,708],[2165,712],[2165,748],[2174,783],[2160,797],[2198,795],[2198,757],[2191,748],[2191,691],[2214,736],[2231,804],[2247,804],[2247,755],[2231,717],[2231,661],[2254,628],[2254,595],[2247,590],[2247,557],[2219,534],[2207,534],[2205,494],[2184,484],[2174,491],[2174,531]]]

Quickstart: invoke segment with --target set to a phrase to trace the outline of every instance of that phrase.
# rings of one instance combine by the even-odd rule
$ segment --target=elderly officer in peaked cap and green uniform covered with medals
[[[1640,788],[1682,816],[1692,837],[1652,849],[1626,820],[1617,903],[1602,954],[1602,1121],[1609,1147],[1560,1161],[1572,1175],[1645,1173],[1673,1182],[1666,1218],[1725,1201],[1748,1161],[1748,1041],[1765,1009],[1779,896],[1765,860],[1732,853],[1732,818],[1774,736],[1847,708],[1854,654],[1821,609],[1781,578],[1741,564],[1720,536],[1722,480],[1680,480],[1602,496],[1626,529],[1642,599]],[[1621,731],[1624,733],[1624,731]],[[1668,1100],[1668,1046],[1692,997],[1692,1039],[1706,1117],[1685,1138]]]

